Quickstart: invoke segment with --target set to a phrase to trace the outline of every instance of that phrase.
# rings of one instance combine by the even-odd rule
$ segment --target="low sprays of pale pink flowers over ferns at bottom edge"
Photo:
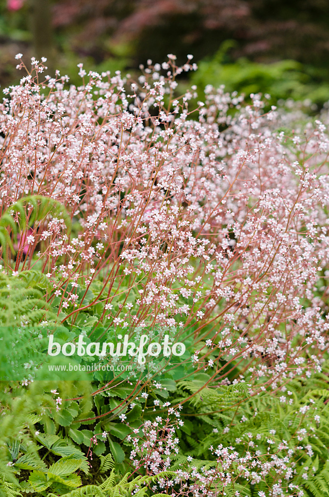
[[[167,407],[168,404],[159,407]],[[126,437],[133,447],[130,453],[130,460],[135,468],[133,473],[144,469],[146,475],[150,476],[171,471],[152,487],[153,492],[170,492],[174,496],[225,496],[232,486],[239,488],[244,482],[255,485],[270,477],[272,484],[269,496],[304,495],[301,486],[295,483],[296,475],[305,481],[309,476],[313,476],[316,469],[306,465],[297,467],[294,461],[296,456],[300,458],[303,452],[309,456],[308,460],[314,455],[310,444],[300,443],[312,436],[312,426],[309,432],[306,429],[296,429],[293,437],[296,439],[296,445],[293,449],[293,438],[289,441],[279,440],[275,437],[275,429],[270,429],[267,436],[263,433],[253,436],[247,432],[236,439],[236,446],[210,445],[213,462],[208,467],[200,467],[199,461],[187,456],[182,458],[183,468],[174,469],[179,453],[177,431],[183,425],[180,420],[181,409],[181,406],[176,409],[168,408],[165,417],[158,415],[154,421],[144,421]],[[259,450],[259,447],[264,446],[267,446],[267,449]],[[235,495],[239,497],[242,494],[237,491]],[[258,495],[267,496],[263,492]]]

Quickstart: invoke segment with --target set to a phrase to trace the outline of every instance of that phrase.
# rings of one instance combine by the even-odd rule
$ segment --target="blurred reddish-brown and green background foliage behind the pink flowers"
[[[0,0],[0,84],[19,78],[16,53],[47,56],[80,83],[77,64],[138,69],[167,53],[194,55],[192,84],[329,100],[328,0]],[[181,82],[183,85],[184,82]]]

